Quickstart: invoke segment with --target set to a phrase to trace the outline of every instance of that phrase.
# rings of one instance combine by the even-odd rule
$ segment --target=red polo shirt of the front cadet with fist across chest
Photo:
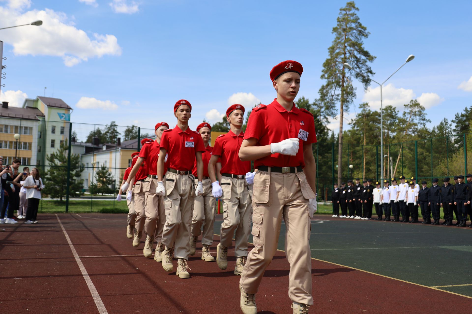
[[[305,109],[298,109],[295,104],[291,111],[287,111],[274,99],[270,105],[259,105],[253,109],[244,134],[245,139],[252,137],[257,139],[257,146],[278,143],[292,137],[300,138],[300,149],[296,156],[271,154],[255,160],[255,169],[259,166],[304,167],[303,145],[316,143],[313,115]]]

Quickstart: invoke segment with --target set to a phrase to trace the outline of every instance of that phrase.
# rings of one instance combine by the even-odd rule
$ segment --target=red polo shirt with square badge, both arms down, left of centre
[[[177,125],[162,133],[160,148],[169,154],[169,168],[176,170],[192,170],[195,164],[195,154],[205,152],[202,135],[187,128],[182,131]]]

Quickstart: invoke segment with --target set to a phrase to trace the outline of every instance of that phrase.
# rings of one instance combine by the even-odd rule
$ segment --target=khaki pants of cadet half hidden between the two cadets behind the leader
[[[197,185],[198,180],[194,184]],[[203,194],[194,197],[194,216],[192,217],[192,227],[190,233],[197,237],[202,233],[202,244],[211,245],[213,243],[213,225],[215,223],[216,199],[212,194],[210,178],[203,179]]]

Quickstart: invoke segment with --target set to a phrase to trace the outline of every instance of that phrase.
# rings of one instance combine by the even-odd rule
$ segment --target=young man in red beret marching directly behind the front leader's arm
[[[244,107],[231,105],[226,110],[230,130],[220,135],[215,142],[213,155],[208,166],[215,197],[223,201],[223,223],[220,229],[220,242],[216,247],[216,262],[220,269],[228,267],[228,247],[233,243],[236,231],[234,274],[241,275],[247,257],[247,241],[251,231],[251,196],[248,184],[252,183],[251,161],[241,161],[238,157],[243,142]],[[215,176],[215,165],[221,158],[221,186]],[[251,180],[246,182],[246,179]],[[221,195],[222,194],[222,195]]]

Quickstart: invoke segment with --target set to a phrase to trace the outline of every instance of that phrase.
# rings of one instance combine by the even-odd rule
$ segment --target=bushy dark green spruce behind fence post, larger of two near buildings
[[[59,146],[59,149],[54,153],[46,156],[46,159],[51,167],[45,175],[44,193],[51,196],[51,198],[62,198],[67,193],[67,153],[68,145],[67,139]],[[80,179],[80,175],[84,168],[80,164],[79,154],[70,154],[70,172],[69,180],[69,195],[82,195],[84,181]]]

